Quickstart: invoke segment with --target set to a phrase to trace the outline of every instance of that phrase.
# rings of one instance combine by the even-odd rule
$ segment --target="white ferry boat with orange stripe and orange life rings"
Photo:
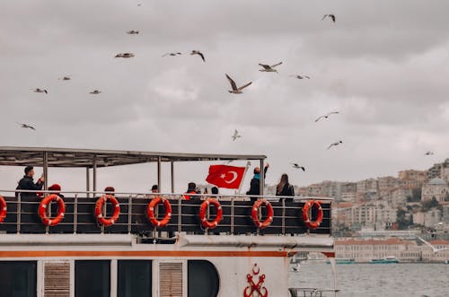
[[[0,166],[42,168],[42,199],[0,193],[0,295],[20,297],[281,297],[298,252],[335,257],[331,199],[174,192],[177,162],[264,155],[0,147]],[[170,163],[172,193],[104,193],[97,169]],[[86,188],[48,191],[48,168],[81,168]],[[164,167],[166,168],[166,167]],[[167,167],[168,168],[168,167]],[[263,171],[263,170],[262,170]],[[53,177],[54,178],[54,177]],[[91,185],[92,179],[92,185]],[[260,184],[263,185],[263,172]],[[60,194],[64,198],[59,197]],[[257,199],[256,199],[257,198]],[[308,212],[304,211],[310,208]],[[334,290],[338,290],[334,277]]]

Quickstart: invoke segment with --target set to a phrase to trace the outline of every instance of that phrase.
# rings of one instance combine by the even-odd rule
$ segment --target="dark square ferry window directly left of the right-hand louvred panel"
[[[151,297],[150,260],[118,261],[118,297]]]

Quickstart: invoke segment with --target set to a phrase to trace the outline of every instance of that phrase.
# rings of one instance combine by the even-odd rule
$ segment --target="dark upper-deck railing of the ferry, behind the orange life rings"
[[[66,212],[61,223],[47,226],[40,220],[38,209],[41,197],[29,197],[14,191],[0,190],[7,204],[6,217],[0,223],[0,233],[132,233],[144,237],[157,237],[161,233],[172,236],[174,232],[190,232],[195,234],[302,234],[306,232],[330,234],[331,214],[329,198],[293,197],[248,197],[242,195],[192,195],[185,200],[183,194],[142,194],[114,193],[119,201],[120,214],[116,222],[110,226],[98,223],[94,215],[97,200],[105,195],[103,192],[61,192],[64,195]],[[32,192],[32,191],[22,191]],[[47,196],[51,192],[45,192]],[[110,193],[107,193],[110,194]],[[172,217],[165,226],[156,227],[150,223],[147,216],[147,205],[154,197],[168,199],[172,206]],[[208,197],[216,198],[223,210],[223,220],[216,228],[205,228],[199,219],[200,205]],[[266,199],[273,208],[273,220],[267,228],[258,228],[251,218],[254,201]],[[303,221],[303,207],[308,200],[321,201],[322,222],[316,229],[308,228]],[[106,203],[103,215],[110,217],[113,205]],[[57,203],[48,206],[48,216],[57,215]],[[162,220],[165,209],[159,204],[154,209],[156,218]],[[316,219],[317,210],[313,208],[312,220]],[[214,220],[216,207],[207,206],[207,219]],[[260,221],[267,218],[267,207],[259,208]],[[165,231],[165,232],[157,232]],[[1,237],[1,234],[0,234]]]

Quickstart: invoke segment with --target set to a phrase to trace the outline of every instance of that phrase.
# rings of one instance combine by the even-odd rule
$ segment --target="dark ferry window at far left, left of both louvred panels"
[[[2,296],[36,297],[36,261],[0,261]]]

